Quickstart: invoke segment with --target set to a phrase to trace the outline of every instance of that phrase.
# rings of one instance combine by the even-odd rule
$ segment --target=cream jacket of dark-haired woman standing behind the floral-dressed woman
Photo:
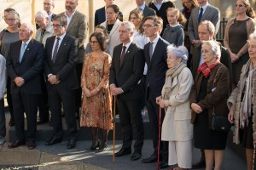
[[[113,57],[113,48],[119,45],[121,42],[119,40],[119,26],[121,25],[121,21],[118,19],[115,21],[112,30],[110,31],[109,37],[109,53],[111,58]],[[101,26],[107,27],[107,20],[101,24]],[[107,29],[107,28],[106,28]]]

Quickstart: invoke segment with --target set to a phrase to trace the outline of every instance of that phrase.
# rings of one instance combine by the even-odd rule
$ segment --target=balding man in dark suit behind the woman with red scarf
[[[209,20],[204,20],[201,21],[200,25],[198,26],[198,35],[200,38],[200,41],[209,41],[213,40],[214,36],[214,31],[215,28],[212,24],[211,21]],[[221,49],[221,58],[220,62],[224,64],[228,70],[230,71],[230,89],[232,89],[232,64],[231,64],[231,59],[230,59],[230,53],[226,48],[224,48],[221,43],[219,43],[220,49]],[[202,53],[201,53],[201,44],[195,46],[194,53],[192,54],[192,59],[191,59],[191,72],[193,75],[193,78],[195,80],[196,74],[197,74],[197,69],[198,67],[203,64],[203,59],[202,59]],[[195,162],[192,165],[193,168],[204,168],[206,167],[206,161],[205,161],[205,152],[204,150],[201,150],[201,159],[197,162]]]

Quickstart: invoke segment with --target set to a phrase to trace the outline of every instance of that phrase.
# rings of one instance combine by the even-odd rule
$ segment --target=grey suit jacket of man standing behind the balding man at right
[[[193,8],[190,18],[189,18],[189,25],[188,25],[188,31],[189,31],[189,39],[192,42],[193,40],[199,40],[198,36],[198,15],[199,15],[199,7]],[[208,5],[206,11],[201,17],[202,20],[210,20],[212,24],[215,26],[215,35],[218,33],[218,27],[220,23],[220,13],[218,8],[213,7],[212,5]]]

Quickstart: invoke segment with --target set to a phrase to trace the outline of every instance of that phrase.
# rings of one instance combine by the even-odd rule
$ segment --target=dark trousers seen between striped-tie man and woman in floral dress
[[[82,99],[82,88],[81,88],[82,70],[83,70],[83,64],[78,63],[76,65],[76,71],[77,71],[77,76],[78,76],[78,80],[79,80],[79,88],[77,88],[75,90],[75,101],[76,101],[75,107],[76,107],[77,114],[79,114],[79,108],[82,105],[82,103],[81,103],[81,99]]]

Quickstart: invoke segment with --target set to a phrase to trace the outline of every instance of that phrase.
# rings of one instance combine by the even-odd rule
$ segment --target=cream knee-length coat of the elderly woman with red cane
[[[165,141],[187,141],[193,139],[189,94],[193,77],[187,67],[172,78],[172,89],[167,95],[169,106],[162,124],[161,139]]]

